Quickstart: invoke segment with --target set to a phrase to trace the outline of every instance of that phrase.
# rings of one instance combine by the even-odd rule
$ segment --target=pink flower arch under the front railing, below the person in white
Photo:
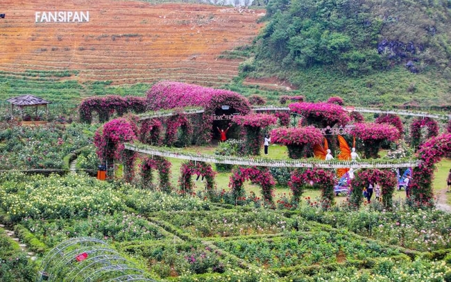
[[[268,167],[238,167],[232,170],[229,187],[232,189],[235,203],[238,203],[239,198],[244,197],[243,183],[246,180],[259,184],[262,188],[264,200],[273,206],[275,182]]]

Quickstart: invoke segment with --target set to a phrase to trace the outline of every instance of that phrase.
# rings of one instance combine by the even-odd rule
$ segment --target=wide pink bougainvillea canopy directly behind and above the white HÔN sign
[[[344,126],[350,121],[346,110],[333,103],[291,103],[289,108],[291,112],[305,117],[308,124],[320,127]]]

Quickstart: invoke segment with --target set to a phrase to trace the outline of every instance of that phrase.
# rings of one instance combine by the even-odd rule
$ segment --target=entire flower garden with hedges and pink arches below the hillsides
[[[450,116],[380,112],[164,81],[5,120],[0,281],[451,281]]]

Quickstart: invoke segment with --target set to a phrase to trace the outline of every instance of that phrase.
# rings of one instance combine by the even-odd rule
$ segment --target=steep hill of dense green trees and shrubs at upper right
[[[271,0],[240,70],[287,80],[307,101],[338,94],[356,105],[448,104],[450,8],[449,1]]]

